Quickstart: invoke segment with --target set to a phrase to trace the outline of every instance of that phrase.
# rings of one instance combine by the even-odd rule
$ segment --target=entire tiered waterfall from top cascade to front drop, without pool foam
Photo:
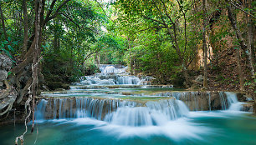
[[[172,91],[156,92],[148,96],[144,93],[110,92],[110,88],[115,90],[119,85],[125,91],[131,90],[127,88],[160,87],[164,90],[172,87],[151,85],[141,88],[141,82],[151,81],[152,77],[139,79],[129,76],[125,72],[126,68],[120,65],[101,65],[101,73],[87,76],[86,80],[81,80],[71,90],[45,94],[48,98],[38,102],[36,119],[93,118],[114,126],[162,127],[166,122],[188,117],[189,111],[240,109],[241,103],[232,92]]]

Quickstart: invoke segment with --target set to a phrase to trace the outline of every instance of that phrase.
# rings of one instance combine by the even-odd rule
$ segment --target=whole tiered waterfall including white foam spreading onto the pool
[[[110,138],[161,134],[172,140],[198,139],[210,131],[197,121],[190,122],[193,117],[215,116],[215,110],[235,113],[241,109],[236,93],[151,85],[153,77],[131,76],[126,70],[120,65],[100,65],[101,73],[81,78],[70,90],[42,92],[36,120],[81,124]]]

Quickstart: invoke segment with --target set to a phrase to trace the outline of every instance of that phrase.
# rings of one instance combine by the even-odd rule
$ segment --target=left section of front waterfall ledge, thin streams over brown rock
[[[98,99],[94,97],[49,98],[38,102],[36,118],[72,118],[95,117],[101,120],[117,107],[134,107],[136,102],[126,102],[116,99]]]

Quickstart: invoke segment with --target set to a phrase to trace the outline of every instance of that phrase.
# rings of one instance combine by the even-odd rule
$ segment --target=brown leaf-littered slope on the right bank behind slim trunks
[[[245,59],[245,56],[242,55],[241,57],[241,65],[245,68],[243,69],[244,92],[251,97],[255,97],[255,82],[253,82],[251,77],[248,61]],[[207,67],[209,90],[239,92],[240,85],[235,49],[223,50],[218,58],[208,63]],[[193,73],[196,74],[194,75],[194,79],[196,79],[198,75],[203,74],[203,67]],[[198,87],[202,87],[202,85]]]

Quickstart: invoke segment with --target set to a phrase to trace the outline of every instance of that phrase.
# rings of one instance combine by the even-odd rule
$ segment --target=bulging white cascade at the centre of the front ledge
[[[182,101],[166,99],[146,102],[146,107],[119,107],[105,117],[105,121],[123,126],[158,126],[188,115]]]

